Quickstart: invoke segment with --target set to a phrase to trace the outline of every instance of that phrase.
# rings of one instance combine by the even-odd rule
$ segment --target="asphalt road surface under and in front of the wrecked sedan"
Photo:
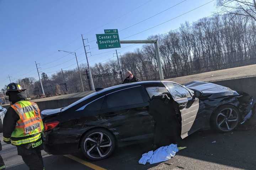
[[[118,148],[110,158],[96,162],[87,160],[81,153],[48,155],[42,152],[42,155],[46,170],[255,170],[255,134],[256,117],[226,134],[199,131],[179,143],[179,146],[187,148],[174,158],[153,165],[138,164],[141,155],[151,150],[150,142]],[[2,134],[0,139],[2,141]],[[16,147],[2,142],[2,148],[0,154],[7,170],[28,170],[17,155]]]

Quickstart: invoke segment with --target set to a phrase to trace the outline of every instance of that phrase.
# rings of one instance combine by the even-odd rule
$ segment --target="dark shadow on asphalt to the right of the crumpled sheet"
[[[178,155],[234,168],[254,170],[256,167],[255,132],[255,116],[244,125],[240,125],[237,130],[226,134],[215,131],[196,132],[180,142],[180,146],[188,148],[178,152]],[[212,143],[213,141],[216,143]]]

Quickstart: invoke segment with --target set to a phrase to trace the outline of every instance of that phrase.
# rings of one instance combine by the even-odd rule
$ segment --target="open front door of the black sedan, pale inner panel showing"
[[[171,81],[162,82],[178,103],[181,113],[181,138],[200,129],[201,119],[198,117],[199,99],[192,97],[185,87]]]

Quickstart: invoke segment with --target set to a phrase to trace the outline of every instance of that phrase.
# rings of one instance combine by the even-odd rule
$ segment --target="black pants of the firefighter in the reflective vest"
[[[43,158],[41,151],[36,153],[21,155],[25,164],[30,168],[30,170],[44,170]]]

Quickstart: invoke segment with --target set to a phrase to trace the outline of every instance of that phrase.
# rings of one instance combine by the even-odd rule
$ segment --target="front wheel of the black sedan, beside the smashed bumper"
[[[210,118],[211,128],[219,132],[230,132],[240,122],[240,114],[236,107],[225,104],[218,107]]]

